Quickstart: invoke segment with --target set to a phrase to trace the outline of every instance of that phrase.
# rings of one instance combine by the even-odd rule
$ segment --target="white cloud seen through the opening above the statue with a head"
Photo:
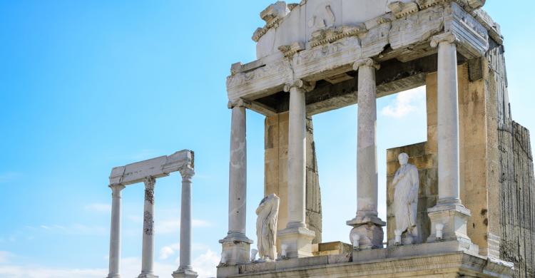
[[[392,103],[381,110],[387,117],[403,118],[415,111],[425,111],[425,86],[398,93]]]

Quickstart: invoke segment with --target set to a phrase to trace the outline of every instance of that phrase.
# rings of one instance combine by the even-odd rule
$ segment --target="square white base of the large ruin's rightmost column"
[[[464,242],[467,247],[472,245],[467,234],[467,222],[471,214],[464,205],[457,202],[444,204],[439,201],[436,206],[427,209],[427,215],[431,220],[431,235],[427,242],[457,240]],[[437,237],[441,230],[442,237]]]

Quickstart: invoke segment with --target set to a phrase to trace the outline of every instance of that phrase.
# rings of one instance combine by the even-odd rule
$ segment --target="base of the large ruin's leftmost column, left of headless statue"
[[[221,263],[228,265],[247,264],[250,262],[250,249],[253,240],[241,233],[230,233],[219,241],[223,246]]]

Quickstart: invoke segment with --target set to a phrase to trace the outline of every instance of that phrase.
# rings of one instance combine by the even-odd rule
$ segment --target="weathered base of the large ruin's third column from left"
[[[382,227],[387,223],[376,215],[366,215],[357,212],[357,216],[346,222],[352,226],[350,232],[350,242],[353,235],[359,235],[359,249],[379,249],[383,247],[384,231]]]

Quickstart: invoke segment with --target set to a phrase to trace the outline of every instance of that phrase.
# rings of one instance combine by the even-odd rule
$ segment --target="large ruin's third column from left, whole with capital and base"
[[[377,88],[375,71],[379,64],[371,58],[357,61],[357,215],[347,221],[353,227],[350,239],[359,235],[360,249],[382,248],[386,225],[377,216]]]

